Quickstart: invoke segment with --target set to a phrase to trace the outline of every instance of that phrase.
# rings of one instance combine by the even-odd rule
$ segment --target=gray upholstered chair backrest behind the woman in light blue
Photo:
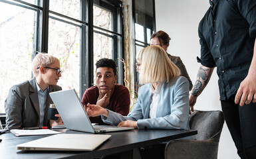
[[[193,111],[190,115],[190,129],[197,130],[195,140],[219,142],[224,117],[222,111]]]

